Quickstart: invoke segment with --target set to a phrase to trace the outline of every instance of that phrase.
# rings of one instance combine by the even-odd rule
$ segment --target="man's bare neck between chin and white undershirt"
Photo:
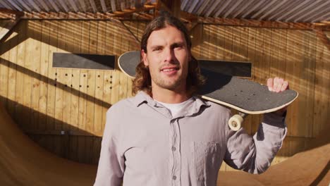
[[[166,104],[179,104],[183,101],[187,101],[190,97],[185,91],[185,89],[173,91],[170,89],[161,89],[159,87],[153,87],[152,98]]]

